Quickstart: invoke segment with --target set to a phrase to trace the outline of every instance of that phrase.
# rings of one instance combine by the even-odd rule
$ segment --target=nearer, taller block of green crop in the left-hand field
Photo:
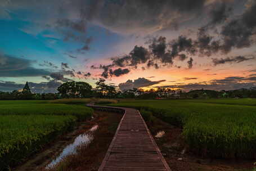
[[[68,131],[75,116],[0,115],[0,170],[20,163],[57,135]]]

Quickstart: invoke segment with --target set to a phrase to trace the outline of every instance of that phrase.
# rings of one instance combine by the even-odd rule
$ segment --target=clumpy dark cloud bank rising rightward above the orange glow
[[[179,54],[179,52],[187,52],[189,54],[195,53],[196,50],[192,43],[192,39],[183,36],[179,36],[169,43],[166,41],[165,37],[154,37],[146,42],[146,44],[149,44],[149,50],[145,47],[135,46],[129,55],[112,58],[112,64],[109,65],[109,68],[114,66],[137,67],[139,64],[146,64],[147,68],[152,66],[155,69],[158,69],[161,67],[161,64],[172,65],[173,60],[176,57],[181,61],[187,59],[187,56],[184,53]],[[95,66],[92,66],[91,68],[96,69]],[[106,74],[104,73],[104,75]]]

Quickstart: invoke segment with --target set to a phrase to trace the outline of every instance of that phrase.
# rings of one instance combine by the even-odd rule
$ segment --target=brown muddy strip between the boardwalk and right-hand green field
[[[147,125],[172,171],[253,171],[255,167],[251,160],[200,158],[187,150],[181,128],[155,117]]]

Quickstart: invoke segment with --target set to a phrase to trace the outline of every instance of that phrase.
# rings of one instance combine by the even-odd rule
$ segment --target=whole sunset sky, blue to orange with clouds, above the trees
[[[256,86],[255,0],[1,0],[0,91]]]

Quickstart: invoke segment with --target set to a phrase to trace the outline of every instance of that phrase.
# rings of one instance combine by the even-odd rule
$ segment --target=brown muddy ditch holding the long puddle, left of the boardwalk
[[[46,169],[46,167],[49,166],[49,164],[52,164],[51,166],[57,164],[57,166],[60,167],[61,163],[66,164],[69,168],[67,170],[77,170],[75,168],[95,170],[104,159],[105,152],[114,137],[122,114],[95,111],[93,116],[93,120],[77,123],[74,131],[60,136],[55,141],[48,144],[41,152],[33,155],[26,163],[14,170],[56,170],[56,168]],[[97,129],[95,129],[96,127]],[[88,135],[88,132],[92,132],[92,129],[93,138],[89,136],[85,137],[85,135]],[[72,153],[71,151],[75,149],[78,149],[77,153]],[[66,156],[63,154],[69,154],[68,158],[64,158],[64,162],[58,164],[58,162],[63,161],[62,158]],[[78,161],[78,159],[82,161]],[[86,162],[87,159],[89,159],[88,162]],[[72,165],[68,165],[68,163]]]

